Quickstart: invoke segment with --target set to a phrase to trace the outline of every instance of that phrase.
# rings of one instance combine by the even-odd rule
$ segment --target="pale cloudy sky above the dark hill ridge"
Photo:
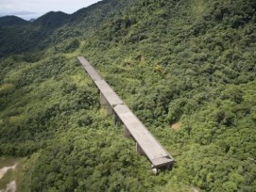
[[[29,20],[51,10],[73,13],[98,1],[100,0],[0,0],[0,17],[15,15]]]

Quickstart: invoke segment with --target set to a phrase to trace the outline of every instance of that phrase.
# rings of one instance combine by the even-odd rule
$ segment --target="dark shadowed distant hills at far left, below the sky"
[[[14,16],[1,18],[3,24],[0,24],[0,56],[43,49],[49,43],[45,39],[55,29],[67,24],[68,18],[69,15],[61,11],[48,12],[33,22]],[[15,26],[19,27],[13,30]]]

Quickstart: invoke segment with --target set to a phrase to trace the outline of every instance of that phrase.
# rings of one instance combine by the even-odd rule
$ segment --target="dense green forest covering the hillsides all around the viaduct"
[[[103,0],[32,23],[2,17],[0,156],[23,158],[18,191],[254,191],[255,50],[255,0]],[[173,168],[151,172],[77,56]]]

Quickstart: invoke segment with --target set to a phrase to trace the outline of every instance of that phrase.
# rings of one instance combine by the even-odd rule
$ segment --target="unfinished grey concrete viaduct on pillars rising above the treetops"
[[[174,158],[164,150],[141,120],[132,113],[109,84],[94,70],[94,67],[83,56],[77,56],[77,59],[100,90],[100,104],[107,105],[107,114],[113,115],[114,123],[118,121],[123,123],[125,136],[135,139],[137,152],[148,158],[152,164],[152,170],[156,172],[159,168],[170,168],[174,163]]]

